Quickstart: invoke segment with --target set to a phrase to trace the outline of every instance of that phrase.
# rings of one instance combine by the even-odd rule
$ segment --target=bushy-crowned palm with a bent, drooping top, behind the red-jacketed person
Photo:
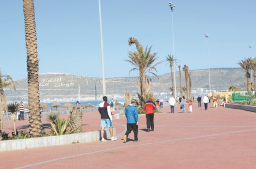
[[[159,76],[157,76],[157,74],[153,73],[152,71],[157,72],[155,67],[159,63],[162,63],[162,61],[158,61],[157,63],[154,64],[156,59],[158,59],[158,57],[156,57],[157,53],[150,54],[150,52],[151,52],[151,47],[149,49],[146,47],[146,49],[144,50],[143,46],[138,46],[137,51],[128,52],[129,59],[125,59],[125,61],[135,66],[135,68],[129,71],[129,75],[132,71],[139,71],[138,79],[137,79],[137,85],[139,90],[139,93],[138,93],[139,106],[142,106],[145,103],[148,92],[151,87],[151,79],[148,79],[147,74],[150,73],[160,80]]]

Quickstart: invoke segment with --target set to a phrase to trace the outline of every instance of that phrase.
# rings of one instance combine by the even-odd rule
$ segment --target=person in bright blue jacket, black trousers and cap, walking
[[[127,118],[127,130],[124,135],[124,143],[127,140],[128,135],[133,130],[134,133],[134,142],[139,142],[138,140],[138,124],[139,124],[139,117],[138,117],[138,109],[136,107],[137,100],[131,100],[131,104],[128,105],[125,109],[125,117]]]

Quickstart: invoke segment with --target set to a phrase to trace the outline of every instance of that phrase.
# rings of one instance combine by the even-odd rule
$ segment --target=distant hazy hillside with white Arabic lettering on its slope
[[[192,88],[209,88],[208,69],[190,70],[192,76]],[[181,71],[182,86],[185,86],[184,71]],[[171,87],[171,73],[159,76],[161,82],[152,77],[152,92],[169,92]],[[230,85],[244,90],[245,71],[242,68],[215,68],[210,69],[210,81],[212,90],[227,90]],[[17,81],[16,91],[13,88],[5,88],[8,100],[20,100],[27,98],[27,78]],[[102,78],[84,77],[64,73],[39,74],[40,99],[46,98],[77,98],[78,86],[80,96],[95,96],[95,85],[98,96],[102,95]],[[179,71],[176,71],[176,86],[179,88]],[[137,77],[106,78],[107,95],[125,95],[126,91],[136,94]],[[179,91],[179,90],[177,90]]]

